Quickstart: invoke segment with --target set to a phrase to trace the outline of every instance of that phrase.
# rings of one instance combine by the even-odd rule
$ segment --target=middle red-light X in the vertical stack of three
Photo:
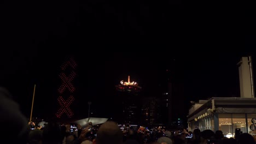
[[[60,94],[62,94],[66,88],[69,90],[69,92],[75,91],[75,87],[71,83],[71,81],[74,79],[75,75],[76,74],[74,71],[72,71],[69,76],[66,76],[64,73],[60,74],[60,78],[62,80],[62,85],[58,89]]]

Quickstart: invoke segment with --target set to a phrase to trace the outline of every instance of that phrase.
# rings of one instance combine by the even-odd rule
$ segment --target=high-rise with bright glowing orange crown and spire
[[[139,115],[141,114],[141,100],[137,96],[141,91],[141,87],[138,86],[137,82],[130,82],[130,76],[128,76],[127,82],[122,80],[115,87],[117,88],[118,95],[120,95],[123,106],[119,121],[122,123],[137,124],[140,120]]]

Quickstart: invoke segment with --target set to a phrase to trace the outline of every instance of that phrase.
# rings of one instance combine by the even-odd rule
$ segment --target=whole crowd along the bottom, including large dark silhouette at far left
[[[26,144],[254,144],[255,140],[248,133],[237,133],[235,137],[224,137],[222,131],[185,129],[170,131],[163,128],[135,129],[126,127],[121,130],[117,123],[107,121],[96,127],[89,125],[82,128],[76,124],[75,129],[70,124],[60,124],[53,119],[42,127],[34,122],[27,122],[19,110],[19,105],[11,99],[10,94],[0,88],[0,109],[3,143]]]

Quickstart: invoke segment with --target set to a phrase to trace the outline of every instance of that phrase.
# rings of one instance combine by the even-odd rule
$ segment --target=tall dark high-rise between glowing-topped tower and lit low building
[[[178,118],[185,118],[184,89],[179,65],[174,62],[168,65],[159,72],[159,123],[173,125]]]

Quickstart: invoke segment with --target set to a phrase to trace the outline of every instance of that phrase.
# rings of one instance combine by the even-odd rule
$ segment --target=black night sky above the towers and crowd
[[[88,100],[96,107],[101,99],[97,104],[110,108],[99,113],[109,116],[114,85],[127,75],[144,88],[144,95],[157,93],[152,89],[166,69],[176,71],[184,86],[185,111],[190,100],[238,97],[236,63],[241,56],[256,56],[253,10],[173,3],[120,6],[86,1],[79,7],[5,7],[1,85],[29,116],[36,83],[34,113],[40,115],[40,102],[46,103],[43,107],[54,105],[50,101],[56,95],[59,65],[74,56],[79,75],[76,97],[84,100],[81,113],[87,113]]]

